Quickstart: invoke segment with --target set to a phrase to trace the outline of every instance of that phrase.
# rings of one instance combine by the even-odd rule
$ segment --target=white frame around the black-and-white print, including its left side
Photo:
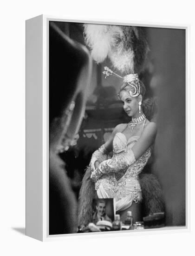
[[[48,39],[49,21],[130,25],[156,28],[184,29],[186,32],[186,95],[189,95],[189,25],[142,24],[131,21],[113,20],[67,20],[48,15],[40,15],[26,20],[26,235],[40,241],[68,239],[74,236],[114,236],[116,232],[104,234],[63,234],[49,235],[49,65]],[[186,125],[188,121],[186,103]],[[186,135],[186,148],[187,148]],[[189,175],[186,154],[186,225],[164,229],[142,230],[145,234],[171,233],[189,230]],[[34,161],[36,159],[36,161]],[[139,231],[137,231],[139,232]],[[117,235],[134,235],[135,232],[117,231]]]

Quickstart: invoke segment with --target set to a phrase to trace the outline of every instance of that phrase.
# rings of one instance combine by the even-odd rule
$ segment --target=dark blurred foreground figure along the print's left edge
[[[49,235],[76,232],[77,202],[59,153],[77,135],[91,78],[86,47],[49,27]]]

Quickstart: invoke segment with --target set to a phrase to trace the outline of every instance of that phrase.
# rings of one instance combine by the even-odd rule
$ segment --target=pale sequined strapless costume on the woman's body
[[[130,207],[132,202],[142,201],[141,187],[138,181],[138,174],[143,170],[148,159],[151,155],[151,148],[148,148],[141,157],[133,161],[130,159],[129,165],[127,168],[121,167],[121,162],[125,162],[124,159],[130,156],[129,152],[132,151],[131,148],[139,139],[139,136],[132,136],[129,140],[126,139],[126,136],[118,132],[113,140],[113,157],[112,169],[111,172],[107,166],[104,169],[104,174],[100,174],[101,177],[98,178],[98,173],[95,172],[91,176],[92,180],[95,182],[95,189],[97,190],[98,198],[115,198],[116,199],[116,211],[125,210]],[[116,161],[117,159],[117,161]],[[109,160],[102,162],[109,162]],[[116,165],[116,169],[113,169],[113,165]],[[105,174],[106,173],[106,174]]]

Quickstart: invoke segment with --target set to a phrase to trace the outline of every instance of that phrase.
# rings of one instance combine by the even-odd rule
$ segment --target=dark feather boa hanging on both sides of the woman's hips
[[[78,201],[78,226],[87,225],[92,219],[92,200],[94,198],[94,182],[90,179],[91,168],[84,174]],[[143,195],[143,216],[164,211],[163,195],[160,184],[153,174],[141,173],[139,182]]]

